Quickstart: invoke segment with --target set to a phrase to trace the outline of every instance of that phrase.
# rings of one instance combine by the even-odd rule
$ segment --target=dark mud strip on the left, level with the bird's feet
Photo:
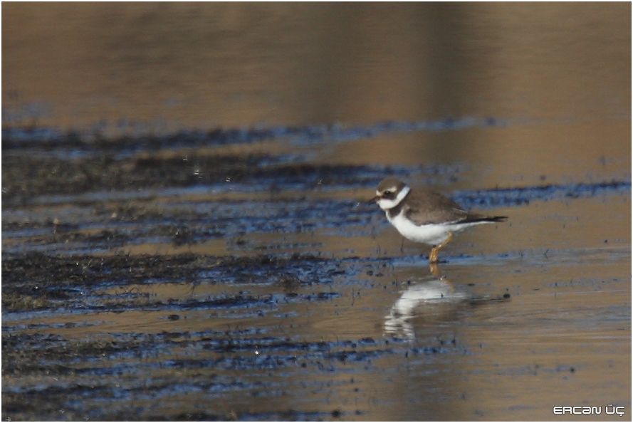
[[[286,291],[288,298],[297,296],[295,288],[302,283],[332,283],[333,275],[341,273],[332,263],[315,256],[294,254],[288,258],[268,255],[253,257],[213,257],[184,254],[179,256],[72,256],[53,257],[44,254],[27,254],[5,259],[2,263],[2,306],[5,311],[73,310],[115,311],[129,308],[125,301],[108,300],[98,305],[87,305],[82,300],[89,296],[85,290],[105,286],[117,286],[125,291],[126,286],[143,283],[189,283],[192,289],[201,281],[234,281],[237,283],[267,283],[277,285]],[[204,275],[203,275],[204,273]],[[298,278],[300,273],[301,279]],[[127,293],[127,301],[132,306],[139,299],[134,291]],[[318,292],[314,299],[325,299],[336,293]],[[262,298],[245,297],[239,294],[231,298],[217,298],[206,301],[152,302],[147,296],[140,296],[144,309],[161,307],[190,308],[232,307],[247,303],[268,303],[271,296]],[[308,301],[313,299],[305,297]],[[120,298],[122,299],[122,298]]]

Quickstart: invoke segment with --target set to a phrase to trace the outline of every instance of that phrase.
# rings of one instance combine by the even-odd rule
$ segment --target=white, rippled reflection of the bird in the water
[[[407,286],[384,317],[384,333],[415,339],[413,318],[424,316],[429,321],[451,319],[459,305],[469,300],[465,292],[457,291],[452,283],[441,276],[436,264],[431,274]]]

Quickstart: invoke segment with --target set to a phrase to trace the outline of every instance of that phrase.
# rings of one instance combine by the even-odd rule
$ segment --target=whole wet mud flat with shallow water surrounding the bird
[[[262,131],[3,144],[3,419],[534,419],[550,416],[543,398],[575,399],[561,392],[626,404],[622,172],[476,189],[459,163],[262,154],[281,133]],[[387,174],[511,219],[460,235],[432,272],[362,201]]]

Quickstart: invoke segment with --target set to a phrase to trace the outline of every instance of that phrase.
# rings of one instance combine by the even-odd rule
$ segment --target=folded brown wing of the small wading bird
[[[418,191],[407,196],[404,214],[417,225],[460,221],[469,214],[453,200],[436,192]]]

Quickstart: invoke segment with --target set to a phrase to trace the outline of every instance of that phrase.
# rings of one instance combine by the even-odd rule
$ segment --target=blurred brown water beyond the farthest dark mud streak
[[[627,4],[3,10],[4,125],[160,131],[630,115]]]

